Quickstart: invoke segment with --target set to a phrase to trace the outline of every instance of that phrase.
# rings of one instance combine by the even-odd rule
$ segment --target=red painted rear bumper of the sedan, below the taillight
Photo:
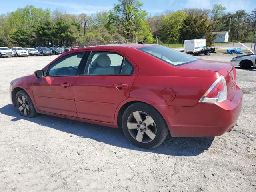
[[[232,100],[193,107],[156,106],[164,116],[172,137],[219,136],[232,130],[242,109],[242,90],[236,86]]]

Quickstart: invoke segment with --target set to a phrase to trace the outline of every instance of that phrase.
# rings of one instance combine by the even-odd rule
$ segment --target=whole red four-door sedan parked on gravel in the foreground
[[[80,48],[15,79],[10,97],[23,116],[50,114],[122,128],[136,146],[229,132],[242,107],[230,62],[200,60],[152,44]]]

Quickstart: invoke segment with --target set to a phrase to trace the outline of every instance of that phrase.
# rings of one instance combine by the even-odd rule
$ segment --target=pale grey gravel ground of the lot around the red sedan
[[[144,150],[122,130],[18,114],[10,104],[10,81],[54,58],[0,58],[0,191],[256,191],[256,68],[237,69],[244,104],[233,131],[215,138],[168,137]]]

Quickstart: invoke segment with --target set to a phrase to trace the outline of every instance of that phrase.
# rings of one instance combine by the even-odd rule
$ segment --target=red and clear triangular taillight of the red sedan
[[[228,97],[228,90],[225,78],[221,75],[214,81],[212,86],[199,100],[201,103],[218,103]]]

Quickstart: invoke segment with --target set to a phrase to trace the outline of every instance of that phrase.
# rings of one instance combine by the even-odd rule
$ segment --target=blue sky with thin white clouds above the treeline
[[[140,0],[143,9],[151,15],[159,14],[165,10],[180,10],[183,8],[207,8],[212,4],[221,4],[226,7],[226,12],[235,12],[243,9],[250,12],[256,8],[255,0]],[[58,8],[66,13],[80,14],[82,12],[90,15],[100,10],[110,10],[118,0],[0,0],[0,14],[15,11],[26,5],[36,8]]]

